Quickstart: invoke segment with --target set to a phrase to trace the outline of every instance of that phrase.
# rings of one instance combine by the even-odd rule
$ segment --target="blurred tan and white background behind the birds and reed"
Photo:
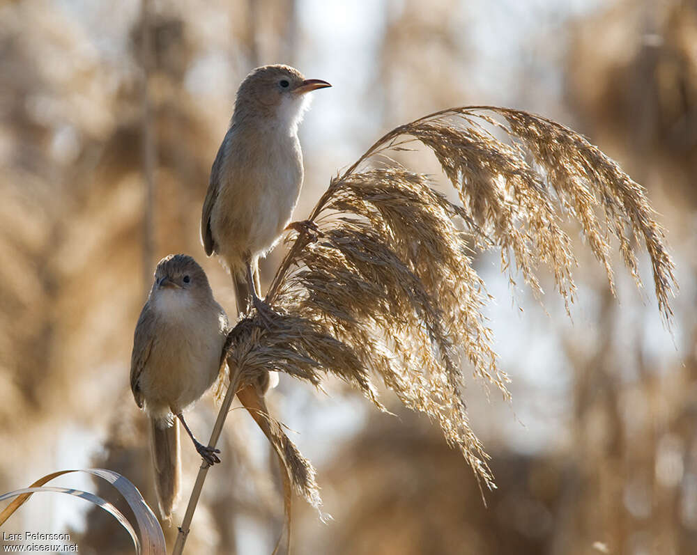
[[[172,252],[204,265],[234,317],[229,278],[199,243],[201,203],[240,80],[277,62],[334,86],[301,127],[296,217],[395,125],[464,104],[528,109],[583,132],[647,187],[681,287],[671,334],[648,258],[645,291],[618,268],[615,301],[579,241],[572,320],[552,295],[543,308],[511,290],[496,256],[476,261],[513,380],[511,404],[466,390],[498,482],[487,507],[439,430],[394,398],[383,402],[397,418],[335,382],[319,393],[282,376],[268,402],[296,430],[334,517],[323,524],[296,499],[294,552],[697,552],[694,0],[3,3],[0,490],[97,466],[156,505],[128,386],[132,331]],[[267,280],[281,254],[263,263]],[[190,424],[208,437],[214,419],[208,396]],[[180,519],[198,468],[183,446]],[[283,522],[276,463],[243,410],[229,416],[222,456],[187,552],[270,553]],[[69,530],[80,553],[132,552],[114,522],[63,497],[33,497],[3,530]]]

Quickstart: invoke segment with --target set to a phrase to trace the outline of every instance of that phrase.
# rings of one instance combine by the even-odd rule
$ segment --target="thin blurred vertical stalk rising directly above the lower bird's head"
[[[150,0],[141,0],[141,68],[142,68],[142,162],[144,190],[143,214],[143,288],[148,295],[155,256],[155,159],[157,151],[153,134],[153,109],[148,84],[153,68],[152,26],[150,24]]]

